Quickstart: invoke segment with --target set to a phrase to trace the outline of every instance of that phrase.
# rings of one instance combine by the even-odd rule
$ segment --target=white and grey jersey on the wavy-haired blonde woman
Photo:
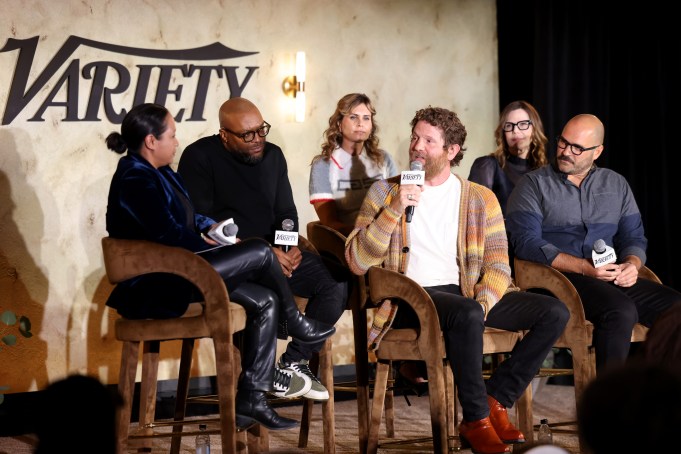
[[[338,219],[354,225],[364,196],[375,181],[397,175],[390,154],[383,153],[383,165],[377,166],[366,154],[359,156],[336,148],[331,159],[315,157],[310,169],[310,203],[334,200]]]

